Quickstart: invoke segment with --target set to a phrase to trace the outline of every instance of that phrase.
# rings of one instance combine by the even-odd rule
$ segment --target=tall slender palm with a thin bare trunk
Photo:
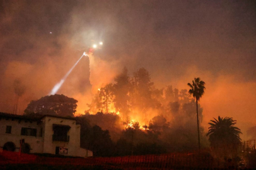
[[[190,86],[191,89],[189,89],[189,93],[193,94],[193,97],[195,98],[195,101],[200,100],[202,95],[204,94],[204,84],[206,84],[204,81],[201,81],[199,77],[195,78],[195,81],[192,81],[193,84],[188,83],[187,85]],[[198,146],[200,150],[200,133],[199,133],[199,120],[198,120],[198,105],[197,105],[197,132],[198,132]]]

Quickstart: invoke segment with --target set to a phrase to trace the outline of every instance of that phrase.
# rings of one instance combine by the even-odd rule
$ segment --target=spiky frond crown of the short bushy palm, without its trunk
[[[213,123],[211,123],[213,122]],[[209,135],[209,142],[211,143],[211,147],[219,147],[220,145],[230,145],[230,144],[240,144],[240,128],[234,127],[236,124],[236,120],[232,118],[218,117],[218,120],[214,118],[211,120],[209,125],[209,131],[206,134]]]

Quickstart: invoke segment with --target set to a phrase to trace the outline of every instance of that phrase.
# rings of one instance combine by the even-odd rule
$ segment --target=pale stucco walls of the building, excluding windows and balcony
[[[53,124],[68,125],[71,128],[67,132],[68,142],[53,141]],[[6,126],[11,126],[11,133],[6,133]],[[21,128],[36,128],[37,136],[21,135]],[[30,153],[49,153],[55,154],[56,147],[66,147],[68,149],[66,156],[93,156],[93,152],[80,147],[80,128],[76,120],[57,118],[54,116],[44,116],[39,121],[28,121],[17,118],[0,118],[0,147],[3,149],[6,142],[15,144],[15,151],[20,150],[20,140],[25,139],[25,143],[30,145]]]

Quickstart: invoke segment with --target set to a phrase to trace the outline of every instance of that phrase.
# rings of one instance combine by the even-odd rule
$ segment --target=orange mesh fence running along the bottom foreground
[[[0,153],[0,164],[42,164],[48,166],[100,166],[105,169],[190,169],[218,167],[206,153],[186,154],[161,154],[147,156],[124,156],[124,157],[44,157],[32,154],[4,151]]]

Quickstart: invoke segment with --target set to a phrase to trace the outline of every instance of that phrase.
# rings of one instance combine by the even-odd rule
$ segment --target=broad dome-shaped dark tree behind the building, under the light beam
[[[54,94],[30,101],[24,112],[26,115],[35,113],[40,115],[73,116],[76,113],[77,102],[76,99],[68,98],[63,94]]]

